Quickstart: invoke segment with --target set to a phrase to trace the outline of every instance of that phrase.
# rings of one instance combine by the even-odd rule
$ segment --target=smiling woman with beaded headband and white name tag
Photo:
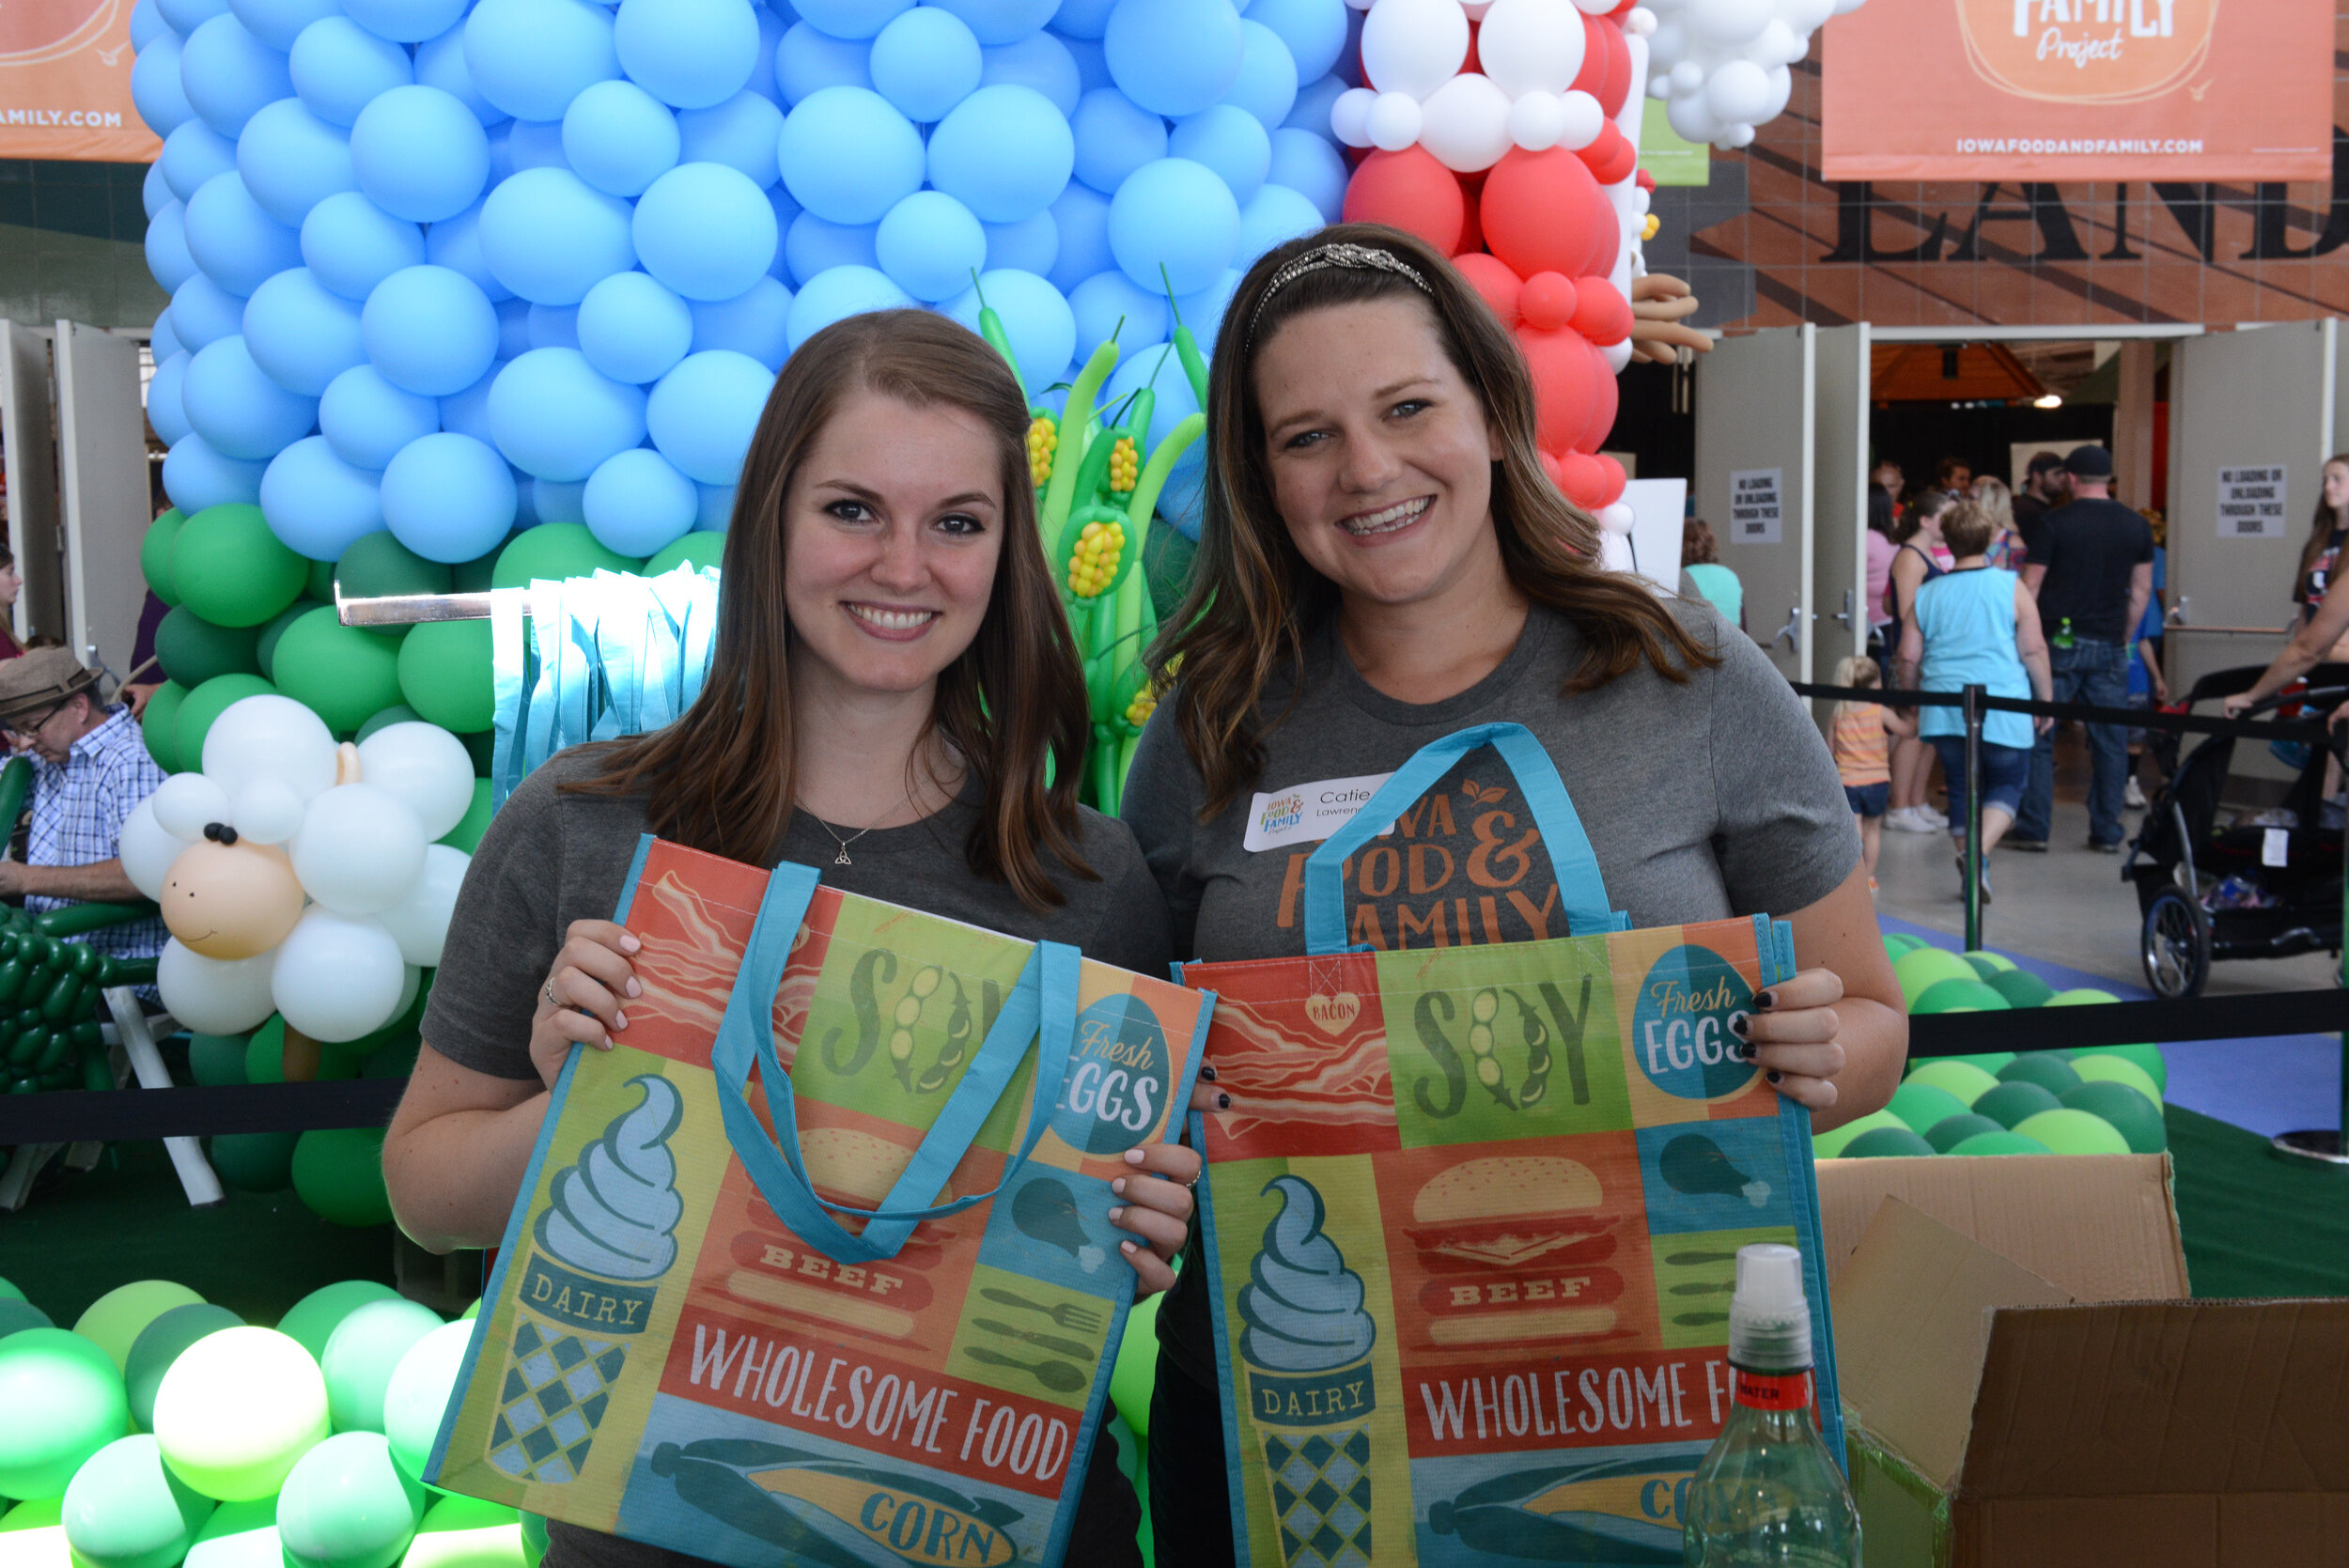
[[[1882,1106],[1907,1047],[1835,763],[1759,648],[1708,606],[1600,568],[1543,477],[1515,338],[1452,263],[1377,225],[1276,246],[1224,312],[1191,599],[1151,653],[1177,683],[1125,819],[1198,958],[1304,953],[1313,840],[1423,744],[1522,723],[1557,763],[1633,925],[1769,911],[1811,965],[1745,1038],[1828,1129]],[[1271,805],[1301,800],[1304,822]],[[1346,932],[1377,948],[1564,937],[1557,873],[1489,749],[1414,807],[1412,876],[1358,854]],[[1231,1561],[1207,1296],[1158,1314],[1158,1540]]]

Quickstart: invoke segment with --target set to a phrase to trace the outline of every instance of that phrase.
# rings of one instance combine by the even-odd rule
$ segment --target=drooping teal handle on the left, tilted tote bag
[[[719,1021],[716,1045],[709,1066],[716,1073],[719,1115],[726,1122],[726,1141],[749,1174],[752,1185],[768,1202],[778,1218],[803,1242],[820,1249],[836,1263],[881,1263],[895,1258],[914,1225],[947,1214],[961,1214],[972,1204],[984,1204],[1012,1183],[1019,1167],[1036,1150],[1052,1106],[1059,1103],[1062,1084],[1069,1075],[1069,1052],[1076,1042],[1076,948],[1059,941],[1038,941],[1029,955],[1019,981],[1012,986],[1003,1012],[996,1014],[987,1040],[963,1068],[961,1082],[947,1096],[911,1164],[890,1188],[876,1209],[834,1204],[815,1195],[808,1167],[799,1153],[799,1115],[792,1096],[792,1077],[775,1056],[773,1007],[782,986],[782,969],[792,958],[792,937],[808,918],[808,899],[815,897],[817,871],[785,861],[775,866],[759,899],[759,920],[752,925],[749,946],[742,951],[742,969],[735,974],[733,993],[726,998],[726,1016]],[[1036,1040],[1036,1094],[1029,1103],[1027,1138],[1003,1162],[1003,1181],[947,1204],[921,1207],[947,1185],[947,1176],[963,1162],[970,1141],[994,1113],[996,1101],[1010,1089],[1019,1063],[1027,1059],[1029,1040]],[[775,1122],[775,1138],[749,1108],[749,1068],[759,1066],[759,1082],[766,1091],[768,1117]],[[860,1232],[846,1230],[832,1214],[867,1216]]]

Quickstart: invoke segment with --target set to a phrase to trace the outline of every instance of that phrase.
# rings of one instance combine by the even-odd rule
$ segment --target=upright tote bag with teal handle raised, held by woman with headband
[[[1348,857],[1499,749],[1567,937],[1346,951]],[[1510,829],[1517,831],[1515,826]],[[1628,930],[1522,725],[1419,751],[1304,869],[1311,958],[1193,962],[1233,1535],[1254,1568],[1680,1563],[1729,1415],[1738,1246],[1790,1242],[1842,1451],[1809,1113],[1729,1023],[1795,972],[1764,915]]]

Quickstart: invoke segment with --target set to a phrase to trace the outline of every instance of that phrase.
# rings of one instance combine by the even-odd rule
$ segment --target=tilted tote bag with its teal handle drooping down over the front
[[[1212,998],[644,840],[428,1479],[738,1563],[1057,1563]],[[867,1216],[862,1223],[855,1216]]]

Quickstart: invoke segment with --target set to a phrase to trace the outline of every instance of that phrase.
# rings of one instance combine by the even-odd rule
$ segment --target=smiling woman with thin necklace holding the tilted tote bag
[[[449,922],[416,1075],[383,1145],[402,1230],[493,1246],[571,1049],[639,995],[608,915],[637,838],[1163,972],[1132,833],[1076,803],[1085,685],[1027,472],[1027,399],[975,333],[860,315],[785,364],[726,535],[716,648],[669,728],[578,746],[498,810]],[[1128,1155],[1106,1216],[1137,1293],[1172,1279],[1198,1157]],[[1135,1563],[1139,1507],[1095,1446],[1071,1561]],[[571,1526],[550,1563],[693,1561]]]

